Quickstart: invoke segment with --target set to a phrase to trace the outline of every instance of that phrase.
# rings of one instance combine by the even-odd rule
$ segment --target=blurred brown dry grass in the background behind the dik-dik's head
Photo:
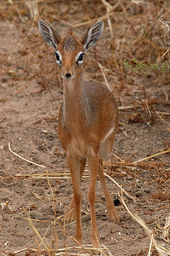
[[[150,62],[153,64],[158,62],[160,65],[162,62],[169,63],[170,30],[169,23],[164,22],[169,20],[168,2],[123,0],[108,3],[94,0],[85,4],[81,1],[73,1],[72,8],[69,9],[66,1],[55,3],[48,0],[15,2],[11,0],[2,1],[0,11],[1,19],[12,23],[13,28],[18,31],[15,49],[1,55],[0,78],[5,81],[5,76],[10,74],[9,86],[14,88],[13,95],[10,97],[1,95],[0,101],[7,102],[19,95],[33,81],[38,82],[40,88],[32,93],[51,91],[50,88],[56,84],[58,91],[62,89],[62,81],[56,71],[52,49],[42,44],[37,29],[38,17],[54,23],[54,28],[59,27],[58,30],[64,26],[63,30],[66,31],[67,24],[72,25],[77,29],[79,38],[84,33],[82,28],[85,30],[93,22],[103,18],[105,21],[103,38],[86,56],[85,72],[90,69],[91,78],[106,82],[116,96],[119,109],[124,114],[128,111],[128,122],[154,122],[160,119],[167,123],[169,129],[169,122],[166,120],[168,117],[155,109],[155,104],[170,102],[169,73],[153,70],[149,74],[139,75],[136,79],[136,74],[123,68],[124,59],[134,65],[135,58],[138,62],[148,65]],[[83,18],[80,15],[82,11],[86,13]],[[148,84],[143,85],[140,80],[144,76],[148,77]],[[27,82],[20,85],[20,82],[25,80]],[[153,86],[155,94],[153,94]],[[53,99],[52,94],[51,97]]]

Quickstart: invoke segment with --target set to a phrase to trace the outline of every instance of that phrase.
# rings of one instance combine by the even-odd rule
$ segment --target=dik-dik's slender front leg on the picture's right
[[[98,230],[96,225],[95,218],[95,184],[97,180],[97,172],[98,172],[98,163],[99,156],[96,155],[90,156],[88,158],[88,168],[89,168],[89,187],[87,190],[88,202],[90,204],[90,213],[91,213],[91,241],[92,247],[100,248],[98,243]],[[96,250],[93,250],[94,254],[97,254]]]

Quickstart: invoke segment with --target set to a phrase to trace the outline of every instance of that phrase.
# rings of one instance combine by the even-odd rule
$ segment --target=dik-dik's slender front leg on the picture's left
[[[81,202],[82,202],[82,193],[80,189],[80,167],[79,167],[79,158],[67,156],[68,165],[70,168],[70,174],[72,177],[73,183],[73,194],[75,200],[76,208],[76,240],[82,244],[83,234],[81,226]],[[76,244],[77,246],[77,244]]]

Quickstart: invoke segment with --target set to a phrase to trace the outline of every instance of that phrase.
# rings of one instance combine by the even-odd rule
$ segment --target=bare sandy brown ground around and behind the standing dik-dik
[[[58,140],[58,112],[63,98],[63,89],[61,78],[55,73],[52,49],[45,46],[39,36],[38,28],[35,27],[31,32],[33,37],[27,39],[28,45],[25,45],[25,49],[22,47],[19,50],[18,44],[21,42],[21,35],[15,25],[4,21],[0,23],[0,51],[3,60],[5,59],[1,63],[1,71],[5,70],[5,72],[2,72],[0,76],[0,255],[15,255],[14,251],[37,248],[35,238],[40,244],[39,238],[29,225],[27,213],[41,237],[51,222],[56,219],[52,208],[52,193],[45,174],[52,174],[48,177],[51,177],[49,181],[54,193],[57,217],[63,215],[65,210],[66,213],[68,212],[72,197],[72,181],[66,154]],[[66,26],[64,29],[66,30]],[[58,30],[62,30],[62,26],[59,26]],[[8,31],[7,34],[6,31]],[[24,25],[22,25],[21,31],[24,32]],[[64,34],[64,32],[62,33]],[[34,49],[36,49],[33,56],[29,53],[30,43],[33,43]],[[90,59],[91,61],[101,49],[102,56],[108,55],[107,49],[104,47],[104,39],[94,50],[89,51],[90,56],[93,57],[92,60]],[[39,54],[36,64],[34,63],[34,54],[36,56]],[[32,58],[32,66],[30,59],[30,62],[27,63],[28,58]],[[98,77],[103,81],[103,77],[97,75],[100,70],[96,64],[93,64],[92,69],[87,66],[88,60],[87,56],[85,78],[97,79]],[[49,76],[50,70],[52,70],[53,78]],[[169,126],[156,114],[152,113],[150,116],[146,105],[142,105],[141,102],[145,102],[142,85],[146,84],[145,92],[148,102],[152,101],[152,104],[149,105],[150,110],[169,113],[169,101],[166,101],[164,92],[169,93],[170,87],[167,83],[158,88],[157,83],[153,82],[149,76],[137,77],[135,74],[131,75],[130,72],[124,73],[124,75],[134,82],[129,87],[128,85],[124,86],[121,99],[125,106],[133,105],[133,107],[120,110],[119,128],[112,152],[126,164],[124,165],[124,162],[110,154],[105,159],[104,168],[106,173],[118,184],[122,184],[127,193],[137,198],[136,201],[133,201],[124,194],[128,208],[133,213],[137,213],[147,223],[149,229],[154,231],[154,227],[156,227],[156,241],[158,244],[164,244],[164,247],[170,250],[168,236],[163,237],[163,228],[170,210],[170,173],[168,171],[170,155],[159,155],[139,163],[136,187],[134,186],[135,165],[131,165],[133,161],[137,160],[139,145],[139,159],[169,149]],[[45,76],[47,79],[44,78]],[[51,81],[50,89],[46,87],[44,91],[37,92],[44,88],[43,82],[48,83],[48,80]],[[114,88],[116,81],[113,80],[112,74],[108,75],[108,81],[112,85],[113,93],[116,91],[115,97],[118,105],[121,106],[118,91],[115,89],[116,87]],[[162,115],[162,117],[170,122],[170,116]],[[32,165],[16,157],[9,151],[9,142],[11,149],[16,154],[34,163],[44,165],[45,168]],[[64,174],[65,172],[66,174]],[[58,175],[59,173],[61,175]],[[35,174],[39,175],[35,176]],[[118,198],[119,187],[109,178],[106,180],[113,200]],[[82,210],[89,213],[86,198],[87,187],[88,177],[84,177],[81,185],[84,195]],[[105,245],[113,255],[146,255],[150,237],[139,224],[131,219],[122,204],[116,206],[121,220],[120,224],[110,222],[98,179],[96,194],[95,207],[100,243]],[[26,209],[27,213],[23,209]],[[91,244],[91,222],[89,215],[85,216],[85,213],[82,212],[83,216],[83,244],[87,245]],[[57,223],[56,226],[58,226]],[[75,224],[66,226],[66,230],[75,237]],[[51,234],[52,227],[50,226],[45,235],[50,246],[52,246]],[[56,234],[58,248],[64,248],[62,229],[59,228]],[[74,245],[72,239],[67,236],[65,242],[67,247]],[[41,248],[44,246],[41,245]],[[105,252],[108,254],[107,251]],[[32,249],[27,249],[17,255],[33,254]],[[152,255],[158,254],[153,251]]]

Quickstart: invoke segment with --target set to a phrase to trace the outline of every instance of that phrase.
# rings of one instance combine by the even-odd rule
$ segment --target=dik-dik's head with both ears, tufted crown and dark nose
[[[82,72],[83,55],[100,39],[104,26],[103,20],[97,21],[79,41],[71,27],[61,39],[45,21],[39,19],[38,24],[42,38],[55,49],[58,71],[63,79],[72,79]]]

